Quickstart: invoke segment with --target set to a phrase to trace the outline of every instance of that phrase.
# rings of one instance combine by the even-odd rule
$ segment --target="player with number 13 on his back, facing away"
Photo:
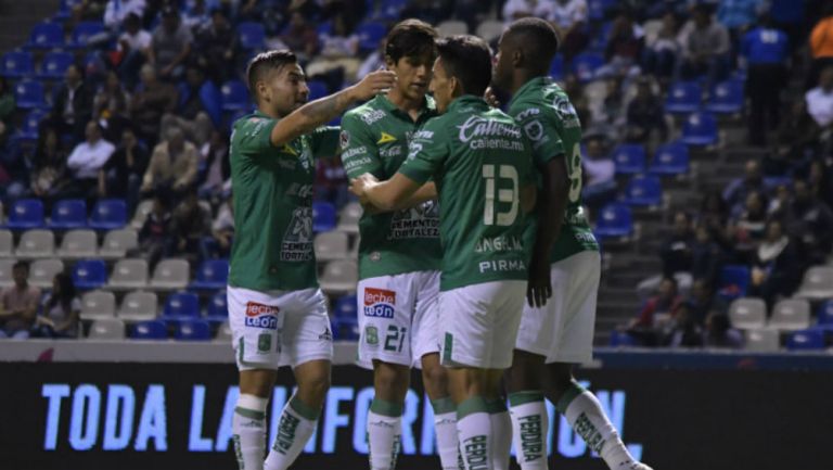
[[[466,469],[508,468],[511,421],[500,382],[512,364],[526,294],[531,149],[520,126],[482,98],[491,80],[489,47],[454,36],[437,49],[431,88],[441,115],[416,131],[398,173],[384,182],[362,175],[351,190],[393,209],[435,181],[443,243],[440,355],[457,405],[460,452]]]

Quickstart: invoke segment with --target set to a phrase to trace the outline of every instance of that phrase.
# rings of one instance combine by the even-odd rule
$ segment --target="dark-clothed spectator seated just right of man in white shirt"
[[[123,198],[128,212],[138,203],[142,176],[148,168],[148,148],[139,141],[133,129],[121,132],[121,143],[99,174],[99,193],[104,198]]]

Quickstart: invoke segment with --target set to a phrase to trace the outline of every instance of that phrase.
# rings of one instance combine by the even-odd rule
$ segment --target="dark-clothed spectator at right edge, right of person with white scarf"
[[[806,180],[795,179],[793,193],[784,218],[786,232],[800,243],[810,264],[824,264],[833,249],[833,212]]]

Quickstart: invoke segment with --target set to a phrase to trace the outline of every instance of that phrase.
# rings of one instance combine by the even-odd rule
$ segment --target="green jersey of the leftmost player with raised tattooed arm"
[[[255,112],[234,123],[234,243],[229,285],[295,291],[318,285],[312,250],[313,155],[334,155],[338,128],[321,127],[277,148],[278,124]]]

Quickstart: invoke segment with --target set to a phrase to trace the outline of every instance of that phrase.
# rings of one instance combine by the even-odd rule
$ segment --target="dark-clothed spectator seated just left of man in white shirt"
[[[44,127],[38,134],[33,157],[29,189],[31,194],[49,207],[54,199],[66,191],[72,179],[66,170],[66,151],[61,148],[57,132]]]

